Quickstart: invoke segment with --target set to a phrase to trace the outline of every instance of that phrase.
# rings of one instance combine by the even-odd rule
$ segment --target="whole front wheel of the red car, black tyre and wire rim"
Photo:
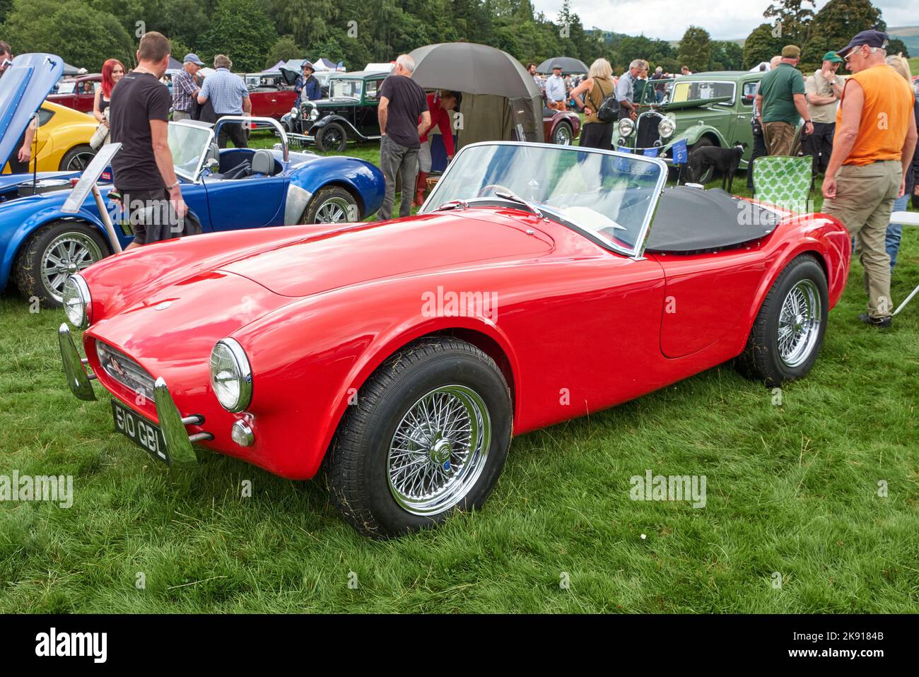
[[[494,361],[448,337],[415,341],[369,378],[326,459],[332,502],[365,536],[398,536],[478,509],[511,441]]]

